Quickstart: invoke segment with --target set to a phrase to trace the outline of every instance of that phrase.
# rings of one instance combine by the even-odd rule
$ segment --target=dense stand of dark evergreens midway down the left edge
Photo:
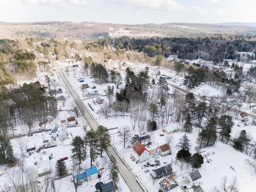
[[[34,122],[47,123],[47,116],[57,115],[57,101],[46,94],[39,82],[23,86],[0,88],[0,135],[7,135],[8,130],[14,133],[16,124],[26,124],[31,132]]]

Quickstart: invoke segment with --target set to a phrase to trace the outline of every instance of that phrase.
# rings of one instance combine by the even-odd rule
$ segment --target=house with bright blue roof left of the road
[[[91,168],[85,169],[84,172],[76,175],[75,178],[78,180],[78,182],[85,182],[98,179],[99,175],[100,172],[98,171],[97,167],[93,166]]]

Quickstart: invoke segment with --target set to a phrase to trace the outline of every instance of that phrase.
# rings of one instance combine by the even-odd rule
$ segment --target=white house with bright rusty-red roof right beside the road
[[[132,149],[131,157],[136,162],[142,162],[152,158],[152,154],[140,142],[136,142]]]

